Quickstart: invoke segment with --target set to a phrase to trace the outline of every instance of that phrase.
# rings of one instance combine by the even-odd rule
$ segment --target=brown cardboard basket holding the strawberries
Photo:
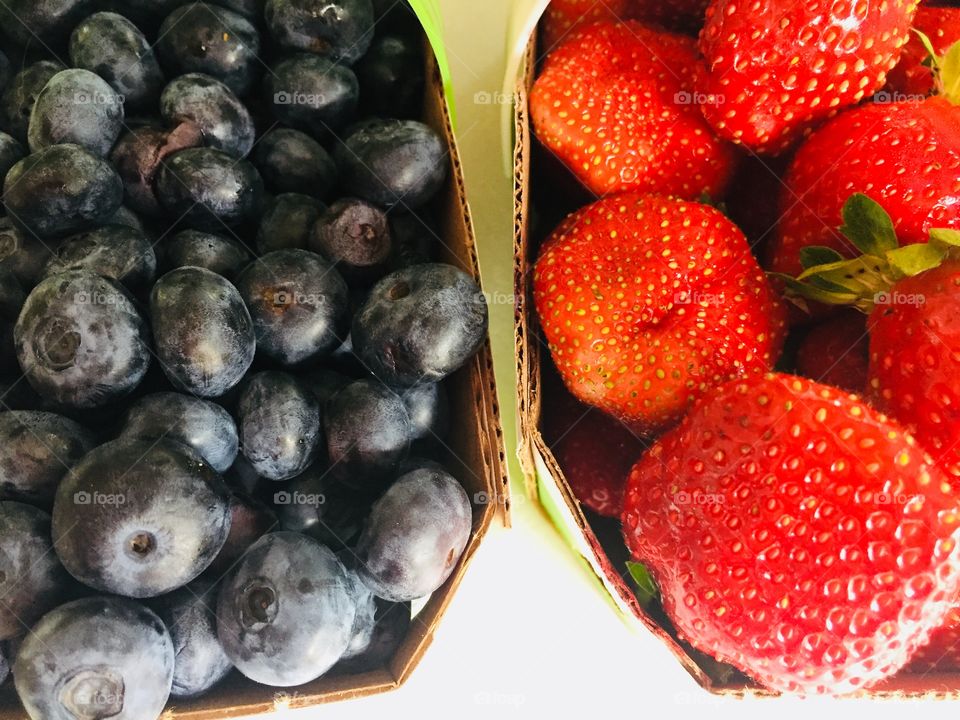
[[[536,19],[548,2],[527,2],[529,16],[514,18],[514,29],[527,34],[522,51],[513,59],[507,81],[514,97],[514,280],[517,297],[516,370],[520,414],[520,462],[528,494],[539,502],[554,526],[595,573],[613,606],[631,630],[649,631],[665,643],[694,680],[720,695],[773,695],[750,678],[720,665],[677,639],[658,603],[641,604],[626,567],[629,555],[617,520],[602,518],[577,501],[556,457],[542,433],[541,410],[544,378],[555,373],[542,337],[532,300],[532,268],[540,244],[567,214],[592,199],[577,185],[566,168],[540,147],[531,132],[528,97],[539,61]],[[533,189],[547,199],[537,203]],[[555,389],[559,386],[559,390]],[[562,383],[551,383],[551,392],[566,392]],[[900,673],[862,693],[869,697],[960,697],[960,674]]]

